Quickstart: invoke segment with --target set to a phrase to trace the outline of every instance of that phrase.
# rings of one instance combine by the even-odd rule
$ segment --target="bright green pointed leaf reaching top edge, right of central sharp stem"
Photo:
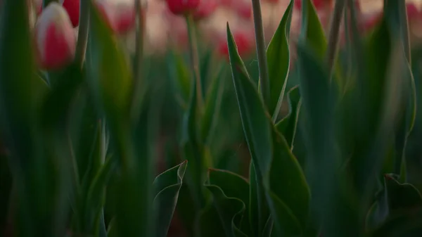
[[[283,102],[284,90],[286,89],[288,73],[290,68],[290,23],[293,15],[293,2],[290,1],[286,11],[281,18],[274,36],[267,48],[267,62],[269,73],[269,114],[275,121],[279,115],[281,103]]]

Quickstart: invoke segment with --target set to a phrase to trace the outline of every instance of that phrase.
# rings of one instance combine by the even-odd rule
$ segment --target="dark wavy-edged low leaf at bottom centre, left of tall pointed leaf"
[[[219,213],[219,219],[224,226],[226,237],[246,237],[239,226],[241,226],[245,203],[238,198],[229,198],[219,186],[205,185],[212,193],[214,203]]]

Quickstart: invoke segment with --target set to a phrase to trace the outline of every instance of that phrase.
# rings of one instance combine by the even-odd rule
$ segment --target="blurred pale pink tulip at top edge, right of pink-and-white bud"
[[[135,26],[136,11],[133,5],[111,4],[108,1],[97,1],[96,3],[108,26],[117,34],[127,33]]]

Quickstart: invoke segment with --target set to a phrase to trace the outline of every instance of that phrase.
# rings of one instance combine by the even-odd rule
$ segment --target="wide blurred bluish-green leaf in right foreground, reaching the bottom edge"
[[[312,190],[312,215],[324,227],[324,236],[359,236],[359,222],[354,206],[355,193],[345,172],[340,171],[340,155],[334,134],[333,89],[328,72],[304,44],[298,44],[301,114],[303,136],[307,145],[307,180]],[[342,213],[344,212],[344,213]],[[341,213],[341,214],[340,214]]]

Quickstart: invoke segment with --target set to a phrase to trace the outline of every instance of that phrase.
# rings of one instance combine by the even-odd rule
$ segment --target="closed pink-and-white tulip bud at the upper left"
[[[35,41],[39,65],[46,70],[62,68],[75,57],[76,37],[68,13],[51,3],[38,18]]]

